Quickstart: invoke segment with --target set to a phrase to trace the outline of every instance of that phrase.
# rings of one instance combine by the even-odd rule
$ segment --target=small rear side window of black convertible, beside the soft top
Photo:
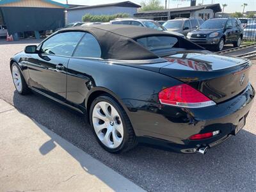
[[[86,33],[79,45],[77,45],[77,49],[73,56],[83,58],[100,58],[101,50],[99,42],[92,34]]]

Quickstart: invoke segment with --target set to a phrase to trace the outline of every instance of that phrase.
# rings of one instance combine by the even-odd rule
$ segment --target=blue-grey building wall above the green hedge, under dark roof
[[[92,15],[113,15],[116,13],[128,13],[131,17],[133,17],[133,14],[137,13],[137,8],[108,6],[99,8],[87,8],[83,10],[68,10],[67,23],[81,21],[83,15],[88,13]]]

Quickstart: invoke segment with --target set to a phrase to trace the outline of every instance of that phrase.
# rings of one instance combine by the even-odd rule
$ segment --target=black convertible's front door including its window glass
[[[28,85],[34,90],[65,101],[67,65],[83,32],[57,33],[38,46],[38,54],[28,56]]]

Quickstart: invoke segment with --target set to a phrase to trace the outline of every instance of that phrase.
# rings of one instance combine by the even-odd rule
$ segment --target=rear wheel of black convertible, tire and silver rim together
[[[101,95],[93,100],[89,115],[97,141],[108,152],[123,153],[137,145],[127,114],[109,95]]]

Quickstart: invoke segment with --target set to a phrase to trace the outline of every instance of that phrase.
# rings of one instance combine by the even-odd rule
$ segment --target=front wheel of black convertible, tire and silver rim
[[[20,95],[26,95],[30,93],[30,89],[28,88],[28,84],[26,83],[22,72],[20,71],[20,67],[17,63],[12,63],[12,79],[15,89]]]

